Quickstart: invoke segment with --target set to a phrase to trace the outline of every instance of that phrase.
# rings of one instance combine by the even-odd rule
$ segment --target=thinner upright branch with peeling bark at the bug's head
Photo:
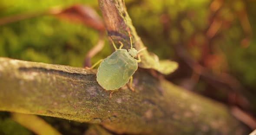
[[[124,43],[123,48],[131,48],[127,31],[127,28],[129,28],[131,31],[133,47],[136,48],[136,50],[145,47],[141,38],[138,36],[135,27],[131,23],[131,18],[126,11],[123,0],[98,0],[98,3],[104,18],[105,28],[116,45],[119,45],[118,41],[121,41]],[[151,68],[161,72],[158,56],[153,53],[149,54],[147,50],[141,51],[140,54],[142,57],[141,63],[138,64],[139,67]]]

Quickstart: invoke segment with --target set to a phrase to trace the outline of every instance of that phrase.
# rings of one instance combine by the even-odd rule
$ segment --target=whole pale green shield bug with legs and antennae
[[[130,42],[131,42],[131,33],[128,29]],[[110,38],[111,39],[111,38]],[[97,64],[101,62],[101,64],[98,67],[97,72],[97,81],[98,84],[103,87],[105,90],[117,90],[118,88],[124,86],[128,83],[130,80],[129,87],[132,91],[135,91],[131,85],[132,85],[132,75],[135,73],[135,71],[138,69],[138,63],[141,62],[141,57],[138,54],[140,51],[145,50],[146,48],[142,48],[141,50],[137,51],[135,48],[132,48],[132,42],[131,42],[131,49],[122,49],[123,43],[119,41],[121,44],[119,49],[116,48],[115,43],[111,39],[112,44],[115,48],[115,52],[112,53],[112,55],[109,55],[104,60],[100,60],[97,63],[95,63],[92,67],[89,69],[92,69]],[[137,58],[138,54],[138,60]],[[111,94],[114,91],[110,93]]]

